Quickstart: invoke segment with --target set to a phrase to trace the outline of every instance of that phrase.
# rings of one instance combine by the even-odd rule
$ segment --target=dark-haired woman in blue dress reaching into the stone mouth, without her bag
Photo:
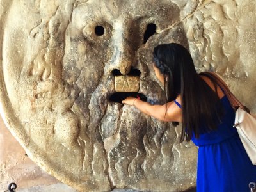
[[[234,125],[235,113],[214,79],[197,74],[189,52],[179,44],[154,48],[156,77],[168,90],[164,105],[133,97],[129,104],[159,120],[182,122],[180,142],[192,140],[198,148],[197,191],[248,191],[256,181],[253,166]]]

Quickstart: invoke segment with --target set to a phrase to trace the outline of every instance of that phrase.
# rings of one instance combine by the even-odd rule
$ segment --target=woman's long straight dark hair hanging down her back
[[[220,103],[216,94],[216,83],[212,81],[215,86],[214,92],[197,74],[189,51],[180,44],[161,44],[154,48],[153,58],[160,72],[168,76],[167,102],[181,95],[180,142],[190,141],[193,135],[199,138],[200,133],[216,129],[223,115],[222,110],[218,112],[216,108]]]

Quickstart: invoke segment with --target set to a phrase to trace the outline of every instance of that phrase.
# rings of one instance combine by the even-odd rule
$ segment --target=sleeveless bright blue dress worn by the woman
[[[233,127],[235,113],[230,102],[226,96],[219,102],[223,104],[225,115],[218,129],[200,134],[198,139],[192,138],[199,147],[196,191],[250,191],[248,184],[256,182],[256,166]]]

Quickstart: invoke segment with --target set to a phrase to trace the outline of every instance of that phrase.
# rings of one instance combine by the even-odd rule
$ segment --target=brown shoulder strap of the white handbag
[[[236,111],[236,107],[244,109],[243,104],[236,98],[236,96],[230,91],[227,84],[214,72],[201,72],[200,75],[209,77],[212,79],[218,86],[220,86],[221,90],[227,96],[232,108]]]

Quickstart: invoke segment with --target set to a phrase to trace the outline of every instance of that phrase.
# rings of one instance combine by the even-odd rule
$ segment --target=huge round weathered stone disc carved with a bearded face
[[[139,92],[163,104],[152,49],[178,42],[198,72],[218,72],[255,109],[255,9],[249,0],[1,0],[3,118],[33,161],[79,191],[195,186],[197,148],[179,143],[180,127],[109,98]]]

